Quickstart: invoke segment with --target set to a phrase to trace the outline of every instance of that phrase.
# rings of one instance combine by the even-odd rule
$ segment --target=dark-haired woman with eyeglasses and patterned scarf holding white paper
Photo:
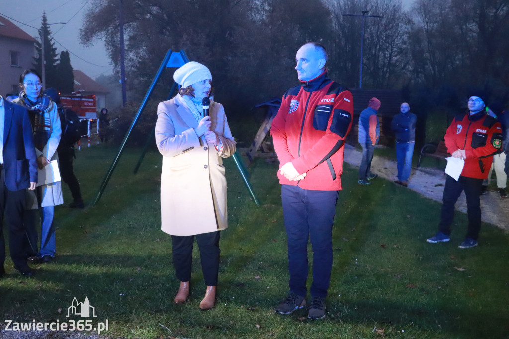
[[[39,171],[44,167],[53,168],[51,161],[58,161],[56,148],[59,146],[62,128],[56,104],[42,94],[42,82],[39,73],[34,69],[27,69],[19,77],[21,93],[14,100],[29,111],[30,121],[34,132],[34,144]],[[51,175],[54,177],[54,174]],[[51,180],[47,180],[51,181]],[[55,228],[53,225],[54,206],[64,203],[60,181],[42,184],[39,175],[38,187],[35,191],[27,191],[27,211],[25,211],[25,226],[29,237],[30,262],[52,262],[55,257]],[[37,251],[37,232],[35,232],[35,213],[28,210],[39,209],[41,214],[41,249]],[[30,253],[32,252],[32,253]]]

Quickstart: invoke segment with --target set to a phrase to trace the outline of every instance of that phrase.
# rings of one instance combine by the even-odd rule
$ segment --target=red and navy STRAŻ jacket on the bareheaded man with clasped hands
[[[272,121],[279,166],[292,162],[300,181],[278,173],[279,183],[309,190],[341,190],[345,138],[352,127],[353,97],[327,77],[301,81],[287,91]]]

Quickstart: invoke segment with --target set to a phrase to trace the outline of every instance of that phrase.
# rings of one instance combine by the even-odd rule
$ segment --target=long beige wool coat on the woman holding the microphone
[[[227,228],[226,178],[222,158],[235,152],[224,108],[210,103],[213,130],[221,140],[219,154],[194,131],[198,122],[180,94],[157,106],[156,143],[162,154],[161,230],[178,236]]]

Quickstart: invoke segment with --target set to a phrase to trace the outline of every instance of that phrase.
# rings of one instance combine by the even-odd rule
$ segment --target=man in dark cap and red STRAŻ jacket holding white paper
[[[480,231],[480,200],[483,179],[488,178],[493,155],[502,150],[502,129],[500,123],[486,114],[484,95],[473,93],[468,99],[468,114],[454,118],[445,132],[445,146],[455,158],[463,158],[465,164],[456,181],[446,177],[439,232],[428,242],[450,240],[450,225],[454,218],[454,205],[462,191],[467,199],[468,231],[460,248],[477,246]]]

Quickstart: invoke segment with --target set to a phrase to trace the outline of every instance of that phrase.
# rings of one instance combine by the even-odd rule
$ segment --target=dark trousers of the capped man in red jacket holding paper
[[[483,189],[483,179],[460,177],[458,181],[447,176],[445,179],[442,215],[439,230],[450,235],[450,225],[454,220],[454,205],[462,191],[467,199],[468,231],[467,238],[477,240],[480,231],[480,192]]]

